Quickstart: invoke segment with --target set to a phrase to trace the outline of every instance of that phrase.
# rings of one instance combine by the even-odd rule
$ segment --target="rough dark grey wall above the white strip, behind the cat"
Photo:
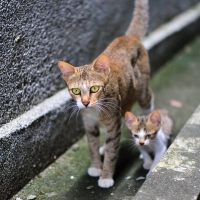
[[[198,0],[150,1],[150,31]],[[0,126],[65,87],[58,60],[91,62],[130,22],[133,1],[0,2]]]

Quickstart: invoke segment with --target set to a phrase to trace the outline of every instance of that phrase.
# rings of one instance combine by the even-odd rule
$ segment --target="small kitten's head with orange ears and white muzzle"
[[[154,111],[148,117],[136,117],[131,112],[125,113],[126,125],[131,131],[136,145],[148,145],[155,139],[161,126],[161,115]]]

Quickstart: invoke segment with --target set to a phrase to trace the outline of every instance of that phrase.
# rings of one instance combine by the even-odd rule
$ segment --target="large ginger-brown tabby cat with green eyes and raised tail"
[[[149,57],[140,39],[148,24],[148,1],[136,0],[133,20],[125,36],[116,38],[91,64],[74,67],[59,61],[58,66],[81,110],[88,138],[90,176],[100,176],[98,185],[113,186],[113,174],[119,150],[121,117],[138,101],[145,110],[153,109],[149,88]],[[74,111],[75,112],[75,111]],[[105,127],[105,156],[99,154],[99,128]]]

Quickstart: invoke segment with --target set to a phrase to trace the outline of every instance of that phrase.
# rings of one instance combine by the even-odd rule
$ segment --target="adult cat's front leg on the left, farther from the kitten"
[[[91,166],[88,174],[93,177],[100,176],[102,173],[102,162],[99,154],[99,129],[98,127],[87,127],[87,138],[91,156]]]

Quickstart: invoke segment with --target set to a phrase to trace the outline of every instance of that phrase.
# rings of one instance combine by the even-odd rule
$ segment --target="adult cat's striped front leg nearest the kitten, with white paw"
[[[121,136],[121,116],[116,120],[107,121],[107,139],[105,143],[105,157],[103,163],[102,175],[98,185],[102,188],[109,188],[114,185],[113,174],[119,151],[119,142]]]

